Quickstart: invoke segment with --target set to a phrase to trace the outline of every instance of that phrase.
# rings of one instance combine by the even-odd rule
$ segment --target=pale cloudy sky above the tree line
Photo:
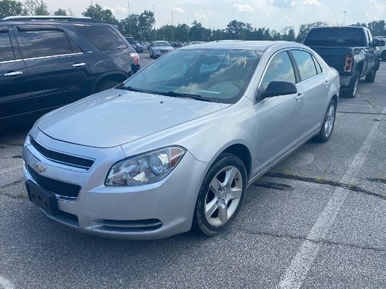
[[[45,0],[49,11],[71,8],[81,15],[91,0]],[[298,30],[300,24],[324,21],[331,25],[386,20],[386,0],[93,0],[109,8],[121,20],[130,13],[155,13],[156,27],[201,22],[206,28],[223,29],[232,20],[251,23],[281,32],[286,26]],[[344,13],[346,11],[346,13]]]

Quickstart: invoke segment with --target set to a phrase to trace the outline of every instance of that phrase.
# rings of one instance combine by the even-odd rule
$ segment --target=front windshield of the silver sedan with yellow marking
[[[177,50],[152,62],[117,88],[235,103],[244,94],[262,53],[210,48]]]

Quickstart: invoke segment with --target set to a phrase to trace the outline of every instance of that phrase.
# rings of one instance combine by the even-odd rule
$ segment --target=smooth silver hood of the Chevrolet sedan
[[[225,107],[229,104],[112,88],[46,114],[38,126],[55,140],[116,147]]]

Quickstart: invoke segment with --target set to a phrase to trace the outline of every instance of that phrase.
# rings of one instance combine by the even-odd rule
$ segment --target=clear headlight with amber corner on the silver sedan
[[[133,186],[158,182],[178,165],[185,149],[166,147],[115,163],[109,170],[107,186]]]

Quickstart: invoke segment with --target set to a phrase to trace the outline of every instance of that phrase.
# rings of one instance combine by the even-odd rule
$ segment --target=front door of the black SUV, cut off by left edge
[[[32,121],[28,72],[11,27],[0,27],[0,129]]]

